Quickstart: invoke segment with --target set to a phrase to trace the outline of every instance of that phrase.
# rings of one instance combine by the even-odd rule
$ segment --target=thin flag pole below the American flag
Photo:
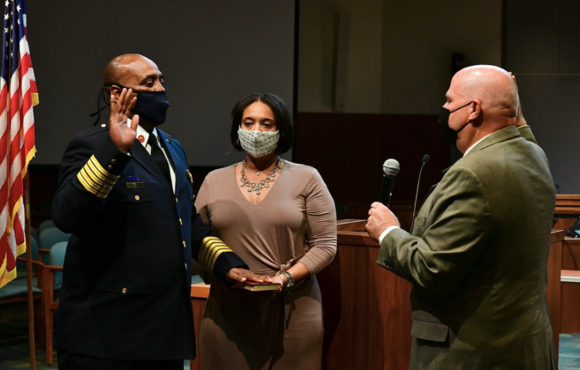
[[[28,286],[28,343],[30,370],[36,370],[36,343],[34,342],[34,298],[32,295],[32,248],[30,243],[30,179],[29,171],[24,176],[24,213],[26,217],[26,284]]]

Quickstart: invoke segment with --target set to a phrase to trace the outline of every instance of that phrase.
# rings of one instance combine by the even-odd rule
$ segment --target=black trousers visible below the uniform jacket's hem
[[[56,351],[59,370],[183,370],[183,360],[111,360]]]

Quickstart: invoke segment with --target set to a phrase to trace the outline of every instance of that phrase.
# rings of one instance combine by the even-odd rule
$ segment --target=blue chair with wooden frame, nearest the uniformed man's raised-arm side
[[[46,364],[52,365],[53,362],[53,329],[54,329],[54,312],[58,310],[58,299],[55,292],[60,290],[62,285],[62,266],[64,265],[64,256],[68,242],[56,243],[50,248],[48,264],[44,266],[44,323],[46,333]]]

